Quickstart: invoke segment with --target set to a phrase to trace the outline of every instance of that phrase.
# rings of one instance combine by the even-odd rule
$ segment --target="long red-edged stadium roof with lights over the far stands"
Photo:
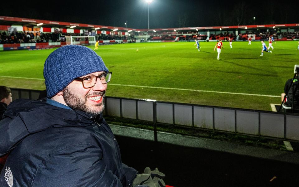
[[[94,29],[99,27],[101,30],[113,30],[118,29],[122,31],[133,30],[133,31],[177,31],[183,30],[220,30],[220,29],[253,29],[253,28],[279,28],[279,27],[299,27],[299,23],[294,24],[268,24],[268,25],[237,25],[237,26],[211,26],[211,27],[183,27],[183,28],[160,28],[160,29],[132,29],[126,27],[115,27],[115,26],[105,26],[105,25],[91,25],[82,23],[71,23],[63,21],[47,21],[47,20],[36,20],[28,18],[19,17],[8,17],[0,16],[0,25],[23,25],[23,26],[36,26],[38,23],[43,23],[43,27],[60,27],[69,28],[70,26],[76,25],[76,29]]]

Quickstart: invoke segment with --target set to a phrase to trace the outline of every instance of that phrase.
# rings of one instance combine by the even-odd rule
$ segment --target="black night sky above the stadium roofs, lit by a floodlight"
[[[147,28],[144,0],[57,2],[5,1],[0,16]],[[299,23],[298,12],[296,1],[153,0],[150,28]]]

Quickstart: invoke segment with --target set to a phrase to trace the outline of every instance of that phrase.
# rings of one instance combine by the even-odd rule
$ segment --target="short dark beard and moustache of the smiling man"
[[[85,100],[82,98],[76,96],[74,93],[72,93],[68,87],[65,87],[63,90],[63,98],[64,102],[72,109],[74,110],[80,110],[83,112],[87,112],[92,115],[98,115],[104,111],[105,105],[104,105],[104,94],[106,91],[103,92],[93,92],[92,94],[87,94],[85,96]],[[102,103],[93,105],[93,107],[90,107],[87,105],[87,98],[89,95],[102,95]]]

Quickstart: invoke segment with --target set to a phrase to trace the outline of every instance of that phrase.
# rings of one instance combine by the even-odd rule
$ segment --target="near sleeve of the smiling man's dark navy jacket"
[[[100,148],[78,144],[49,156],[37,167],[31,186],[122,187],[122,184],[102,161]]]

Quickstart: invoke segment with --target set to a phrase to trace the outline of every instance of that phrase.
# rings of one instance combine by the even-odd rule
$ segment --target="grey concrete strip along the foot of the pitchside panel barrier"
[[[137,129],[120,125],[109,124],[115,135],[145,139],[154,141],[152,130]],[[192,136],[177,135],[172,133],[158,132],[158,142],[169,143],[193,148],[205,148],[225,153],[234,153],[250,157],[258,157],[281,162],[299,164],[299,153],[292,151],[280,151],[276,149],[253,147],[242,144],[234,144],[227,141],[197,138]]]

